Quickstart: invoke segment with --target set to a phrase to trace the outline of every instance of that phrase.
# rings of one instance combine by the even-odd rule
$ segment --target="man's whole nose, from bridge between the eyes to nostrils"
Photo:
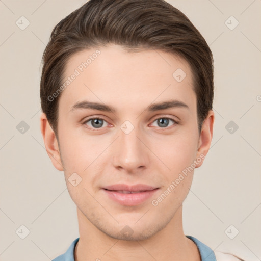
[[[125,121],[119,129],[119,139],[115,146],[114,166],[129,172],[146,166],[147,154],[145,145],[140,141],[142,136],[138,126]],[[139,137],[139,138],[138,138]]]

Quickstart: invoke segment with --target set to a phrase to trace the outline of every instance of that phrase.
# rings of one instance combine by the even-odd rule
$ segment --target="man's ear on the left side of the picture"
[[[45,145],[45,149],[51,162],[55,166],[56,169],[63,171],[63,165],[61,160],[61,154],[58,146],[58,141],[55,136],[53,129],[51,128],[45,113],[42,113],[40,116],[40,128],[43,136],[43,141]]]

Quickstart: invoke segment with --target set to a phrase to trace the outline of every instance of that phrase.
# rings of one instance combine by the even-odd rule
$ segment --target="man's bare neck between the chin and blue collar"
[[[158,233],[146,240],[118,240],[95,227],[77,208],[80,239],[75,247],[75,261],[200,261],[193,241],[182,228],[182,205],[172,220]]]

